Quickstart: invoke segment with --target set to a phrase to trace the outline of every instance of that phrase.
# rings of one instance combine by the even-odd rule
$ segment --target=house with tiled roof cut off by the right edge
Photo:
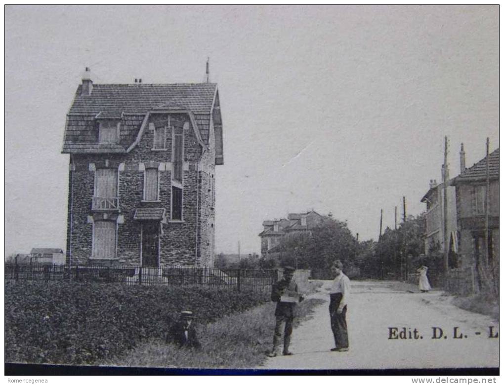
[[[489,170],[488,207],[485,207],[487,169]],[[490,273],[498,276],[499,265],[499,149],[451,181],[457,196],[457,228],[460,233],[459,254],[462,268],[473,268],[479,288],[491,277],[483,276],[487,262]],[[486,211],[488,210],[488,211]],[[485,213],[488,234],[485,239]]]

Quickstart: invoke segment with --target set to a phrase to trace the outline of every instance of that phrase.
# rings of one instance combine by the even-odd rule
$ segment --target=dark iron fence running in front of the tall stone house
[[[57,266],[5,265],[5,281],[72,281],[126,285],[202,286],[241,290],[270,290],[278,279],[276,270],[215,269],[166,266]]]

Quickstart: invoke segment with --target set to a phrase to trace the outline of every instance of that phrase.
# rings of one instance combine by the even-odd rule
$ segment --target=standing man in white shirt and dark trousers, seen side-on
[[[346,312],[350,295],[350,279],[343,274],[343,264],[340,260],[333,263],[332,270],[336,274],[336,278],[329,289],[329,295],[331,296],[329,315],[331,316],[331,329],[333,330],[336,347],[331,351],[346,352],[348,351]]]

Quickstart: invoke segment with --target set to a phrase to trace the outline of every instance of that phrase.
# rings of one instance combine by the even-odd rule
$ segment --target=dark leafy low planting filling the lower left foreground
[[[267,300],[269,293],[201,287],[6,284],[5,360],[92,364],[164,338],[183,309],[207,324]]]

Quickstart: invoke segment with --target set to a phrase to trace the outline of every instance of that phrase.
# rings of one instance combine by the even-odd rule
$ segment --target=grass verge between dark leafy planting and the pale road
[[[321,299],[308,298],[297,306],[294,327],[308,319]],[[179,349],[153,338],[123,356],[98,362],[107,366],[253,368],[266,359],[275,327],[275,303],[270,302],[240,314],[225,316],[200,326],[201,350]]]

